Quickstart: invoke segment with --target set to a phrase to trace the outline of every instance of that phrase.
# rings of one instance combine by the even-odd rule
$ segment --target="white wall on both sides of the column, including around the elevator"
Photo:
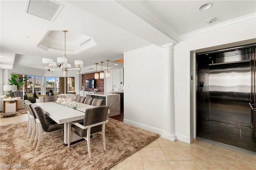
[[[255,39],[255,29],[255,20],[241,22],[184,39],[174,47],[175,134],[178,140],[190,143],[190,136],[195,134],[195,124],[192,124],[196,107],[194,51]],[[164,131],[163,107],[167,104],[164,91],[168,87],[162,84],[165,78],[163,53],[163,49],[155,45],[124,53],[124,122],[158,133]],[[193,80],[190,80],[191,75]]]

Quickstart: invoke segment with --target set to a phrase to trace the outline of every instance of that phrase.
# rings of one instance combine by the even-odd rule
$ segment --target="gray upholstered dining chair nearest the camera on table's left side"
[[[46,121],[46,117],[44,115],[44,111],[40,106],[36,104],[31,105],[34,113],[36,115],[36,137],[33,146],[36,144],[36,140],[38,139],[38,143],[36,145],[36,151],[38,150],[43,134],[47,132],[53,132],[64,129],[64,124],[58,124],[55,121]]]

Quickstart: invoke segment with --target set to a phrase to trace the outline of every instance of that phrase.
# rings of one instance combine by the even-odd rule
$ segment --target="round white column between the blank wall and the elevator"
[[[174,126],[174,43],[162,46],[164,48],[164,61],[166,61],[166,79],[167,79],[167,106],[165,120],[165,132],[163,138],[170,141],[176,140],[175,126]]]

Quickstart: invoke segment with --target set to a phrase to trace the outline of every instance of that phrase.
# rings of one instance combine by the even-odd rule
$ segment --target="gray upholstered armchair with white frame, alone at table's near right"
[[[68,123],[68,149],[70,148],[71,131],[76,135],[83,137],[87,141],[88,154],[91,158],[90,136],[96,133],[102,135],[103,147],[106,151],[105,140],[105,124],[107,120],[108,106],[88,108],[84,114],[84,122],[69,122]],[[72,124],[72,126],[71,126]]]

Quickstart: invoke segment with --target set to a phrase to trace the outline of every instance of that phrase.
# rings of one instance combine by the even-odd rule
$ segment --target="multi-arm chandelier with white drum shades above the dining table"
[[[57,57],[57,62],[54,62],[53,59],[48,59],[48,58],[43,58],[42,63],[47,64],[45,66],[45,69],[48,71],[63,71],[63,76],[66,77],[68,76],[68,71],[69,70],[78,70],[80,73],[81,67],[84,66],[84,62],[81,60],[75,60],[74,64],[76,68],[71,68],[71,64],[68,64],[68,58],[66,56],[66,32],[68,31],[63,31],[65,33],[65,46],[64,46],[64,57]],[[59,63],[60,65],[57,65]]]

